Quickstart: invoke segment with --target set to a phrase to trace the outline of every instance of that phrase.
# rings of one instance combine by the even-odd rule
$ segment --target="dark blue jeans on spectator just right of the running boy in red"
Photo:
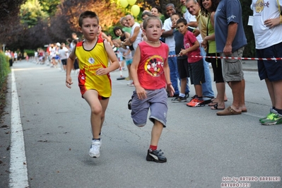
[[[169,55],[175,55],[175,52],[170,52]],[[178,68],[177,68],[177,57],[169,57],[168,58],[168,66],[170,67],[170,81],[172,83],[173,88],[175,89],[175,95],[180,94],[180,90],[178,88],[178,80],[180,80],[180,76],[178,74]],[[189,93],[189,86],[188,86],[188,80],[187,80],[187,86],[185,89],[185,93]]]

